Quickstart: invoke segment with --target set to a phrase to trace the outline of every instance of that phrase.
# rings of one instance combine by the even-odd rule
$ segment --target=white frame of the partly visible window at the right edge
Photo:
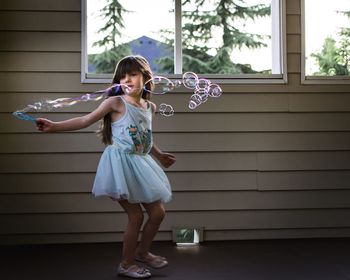
[[[301,0],[301,83],[302,84],[350,84],[350,76],[306,75],[305,0]]]

